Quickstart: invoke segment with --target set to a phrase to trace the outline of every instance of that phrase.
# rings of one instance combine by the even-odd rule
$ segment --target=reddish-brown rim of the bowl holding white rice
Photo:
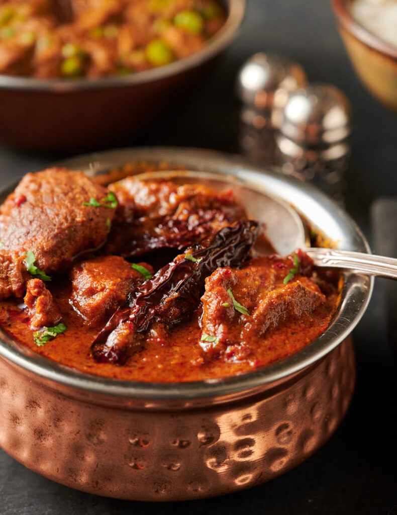
[[[343,28],[352,33],[361,43],[392,59],[397,59],[397,48],[356,22],[347,8],[348,2],[349,0],[331,0],[336,18]]]

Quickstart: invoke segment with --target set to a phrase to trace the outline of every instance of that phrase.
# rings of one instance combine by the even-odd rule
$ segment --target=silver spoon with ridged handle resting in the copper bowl
[[[310,247],[305,226],[298,213],[284,200],[256,184],[234,176],[200,171],[154,172],[136,176],[140,180],[169,179],[180,184],[203,182],[217,190],[232,188],[249,215],[266,224],[266,235],[278,254],[285,256],[302,249],[318,267],[342,268],[368,276],[397,279],[397,259],[330,248]]]

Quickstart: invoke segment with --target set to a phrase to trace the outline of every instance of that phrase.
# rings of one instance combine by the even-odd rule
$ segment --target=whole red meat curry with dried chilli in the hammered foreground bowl
[[[54,361],[123,380],[263,367],[327,328],[342,284],[301,250],[260,254],[265,241],[231,190],[27,174],[0,208],[0,324]]]

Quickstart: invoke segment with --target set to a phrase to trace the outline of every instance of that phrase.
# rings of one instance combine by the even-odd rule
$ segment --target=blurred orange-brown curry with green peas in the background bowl
[[[37,78],[127,75],[183,59],[225,24],[214,0],[0,0],[0,73]]]

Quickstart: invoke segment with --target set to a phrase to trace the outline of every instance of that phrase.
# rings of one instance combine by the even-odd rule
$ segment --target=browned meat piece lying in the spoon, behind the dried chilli
[[[219,193],[203,184],[127,177],[109,189],[119,205],[106,250],[125,257],[166,247],[181,250],[247,218],[231,191]]]

